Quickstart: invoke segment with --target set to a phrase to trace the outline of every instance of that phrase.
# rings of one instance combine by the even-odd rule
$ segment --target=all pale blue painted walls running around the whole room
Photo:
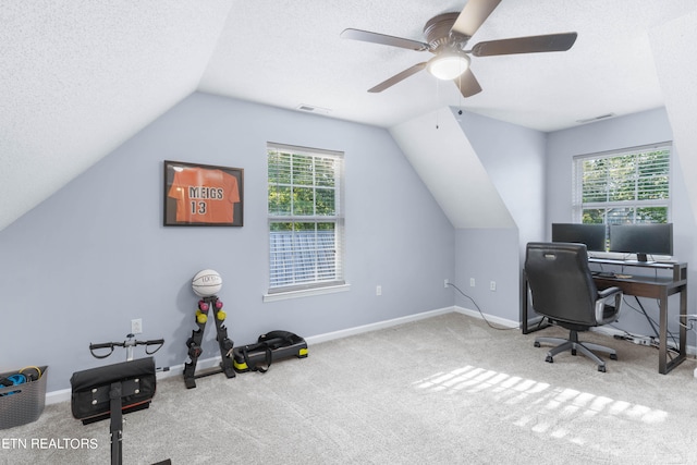
[[[166,339],[158,366],[183,364],[195,328],[191,279],[203,268],[223,277],[219,295],[237,344],[272,329],[311,336],[454,304],[473,308],[443,287],[453,277],[484,313],[517,321],[522,250],[548,238],[551,222],[571,219],[573,156],[672,138],[663,110],[551,134],[466,114],[463,131],[517,228],[455,231],[387,130],[192,95],[0,231],[0,371],[48,365],[48,390],[69,388],[72,372],[103,364],[89,343],[123,340],[133,318],[143,318],[142,339]],[[262,302],[267,142],[345,152],[348,292]],[[245,225],[162,227],[164,159],[243,168]],[[675,255],[694,264],[685,183],[675,157]],[[639,316],[622,322],[650,332]],[[203,358],[219,355],[213,336],[207,328]]]

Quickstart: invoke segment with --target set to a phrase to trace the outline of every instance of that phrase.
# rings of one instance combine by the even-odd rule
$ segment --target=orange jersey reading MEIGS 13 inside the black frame
[[[176,199],[176,221],[189,223],[232,223],[240,201],[235,176],[205,168],[174,171],[168,196]]]

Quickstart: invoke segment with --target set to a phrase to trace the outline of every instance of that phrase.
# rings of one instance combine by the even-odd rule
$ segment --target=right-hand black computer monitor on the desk
[[[610,252],[647,255],[673,255],[673,223],[610,224]]]

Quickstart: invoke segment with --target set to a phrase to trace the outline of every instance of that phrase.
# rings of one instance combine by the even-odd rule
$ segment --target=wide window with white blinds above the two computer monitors
[[[671,145],[574,158],[574,219],[582,223],[667,223]]]

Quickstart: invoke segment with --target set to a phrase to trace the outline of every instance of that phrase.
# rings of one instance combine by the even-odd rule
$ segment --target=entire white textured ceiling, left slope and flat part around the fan
[[[0,230],[193,91],[392,127],[445,106],[539,131],[664,105],[647,32],[694,0],[503,0],[472,39],[575,30],[567,52],[474,58],[484,90],[414,75],[430,54],[340,38],[424,40],[465,0],[0,0]],[[681,44],[676,44],[681,47]],[[425,57],[426,56],[426,57]]]

